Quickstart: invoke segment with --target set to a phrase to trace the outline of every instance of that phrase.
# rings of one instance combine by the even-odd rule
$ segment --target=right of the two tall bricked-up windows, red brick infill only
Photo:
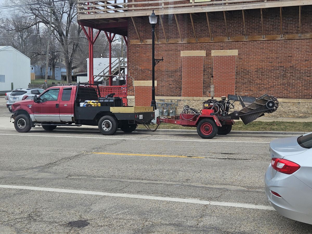
[[[235,56],[213,57],[215,97],[235,94]]]

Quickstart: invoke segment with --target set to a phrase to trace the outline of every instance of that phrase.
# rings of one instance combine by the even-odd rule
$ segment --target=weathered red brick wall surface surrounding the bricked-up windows
[[[283,33],[298,33],[298,7],[285,7],[282,12]],[[279,34],[279,8],[263,11],[265,35]],[[189,14],[179,15],[183,38],[192,38],[193,28]],[[151,26],[148,17],[135,19],[143,40],[150,39]],[[226,37],[223,12],[209,16],[213,37]],[[261,35],[260,9],[245,13],[248,36]],[[134,95],[133,80],[151,80],[151,45],[131,44],[138,40],[132,21],[128,21],[128,93]],[[179,38],[173,15],[163,17],[167,37]],[[204,13],[194,15],[197,36],[209,37]],[[230,37],[243,36],[244,27],[241,11],[227,14]],[[161,24],[156,25],[158,37],[164,38]],[[312,6],[301,10],[301,33],[312,33]],[[285,36],[285,35],[284,35]],[[184,50],[205,50],[203,58],[203,96],[209,96],[213,57],[211,50],[238,50],[235,67],[235,94],[260,96],[267,92],[280,98],[312,98],[312,39],[271,41],[224,41],[207,43],[156,44],[155,57],[164,61],[156,65],[157,96],[181,96]],[[221,84],[223,85],[223,84]],[[192,84],[189,84],[190,89]],[[216,90],[218,87],[216,87]]]

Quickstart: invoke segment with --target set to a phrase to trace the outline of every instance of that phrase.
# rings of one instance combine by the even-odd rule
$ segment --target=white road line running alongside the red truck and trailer
[[[228,143],[260,143],[270,144],[270,142],[258,141],[214,141],[214,140],[180,140],[180,139],[146,139],[146,138],[121,138],[121,137],[79,137],[79,136],[56,136],[56,135],[33,135],[33,134],[0,134],[6,136],[38,136],[38,137],[68,137],[68,138],[90,138],[90,139],[117,139],[117,140],[151,140],[151,141],[193,141],[193,142],[228,142]]]

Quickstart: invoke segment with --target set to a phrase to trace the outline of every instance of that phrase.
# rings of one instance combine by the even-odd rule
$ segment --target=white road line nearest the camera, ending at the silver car
[[[203,200],[197,200],[197,199],[178,198],[178,197],[155,197],[155,196],[127,194],[127,193],[103,193],[103,192],[84,191],[84,190],[41,188],[41,187],[16,186],[16,185],[0,185],[0,188],[27,189],[27,190],[37,190],[37,191],[58,192],[58,193],[78,193],[78,194],[90,194],[90,195],[100,195],[100,196],[110,196],[110,197],[139,198],[139,199],[148,199],[148,200],[157,200],[157,201],[204,204],[204,205],[212,205],[212,206],[240,207],[240,208],[257,209],[257,210],[274,210],[274,208],[270,206],[260,206],[260,205],[253,205],[253,204],[248,204],[248,203],[213,202],[213,201],[203,201]]]

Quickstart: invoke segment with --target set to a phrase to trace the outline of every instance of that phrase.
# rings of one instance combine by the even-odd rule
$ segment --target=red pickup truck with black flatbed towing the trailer
[[[91,125],[103,135],[113,135],[118,128],[133,132],[137,124],[150,124],[155,118],[153,107],[124,106],[114,94],[101,97],[99,86],[90,84],[51,87],[33,100],[14,103],[12,112],[14,127],[22,133],[35,126],[52,131],[57,126]]]

